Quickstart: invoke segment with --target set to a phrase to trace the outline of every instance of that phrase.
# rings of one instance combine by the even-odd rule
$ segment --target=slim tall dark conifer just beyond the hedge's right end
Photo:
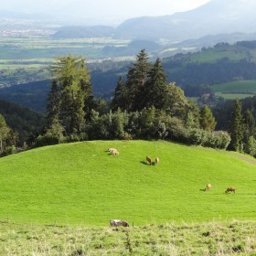
[[[235,105],[229,123],[229,133],[231,138],[229,149],[242,151],[243,120],[241,115],[241,103],[238,99],[236,99],[234,103]]]

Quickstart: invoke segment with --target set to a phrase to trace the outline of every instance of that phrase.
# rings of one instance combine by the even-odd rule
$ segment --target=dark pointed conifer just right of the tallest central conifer
[[[156,59],[152,69],[148,72],[148,80],[144,86],[142,108],[155,106],[163,109],[165,105],[166,75],[160,59]]]

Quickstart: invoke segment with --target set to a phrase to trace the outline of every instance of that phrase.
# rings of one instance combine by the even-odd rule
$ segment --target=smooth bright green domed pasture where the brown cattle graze
[[[115,147],[120,155],[110,155]],[[145,156],[160,159],[146,165]],[[0,221],[106,226],[256,219],[256,165],[167,142],[60,144],[0,159]],[[155,162],[155,161],[154,161]],[[212,188],[204,191],[208,183]],[[235,194],[225,194],[227,187]]]

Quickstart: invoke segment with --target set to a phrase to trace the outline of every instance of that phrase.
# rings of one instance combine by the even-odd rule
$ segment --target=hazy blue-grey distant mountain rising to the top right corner
[[[255,0],[211,0],[171,16],[137,17],[116,28],[116,38],[167,38],[174,41],[206,35],[256,31]]]

